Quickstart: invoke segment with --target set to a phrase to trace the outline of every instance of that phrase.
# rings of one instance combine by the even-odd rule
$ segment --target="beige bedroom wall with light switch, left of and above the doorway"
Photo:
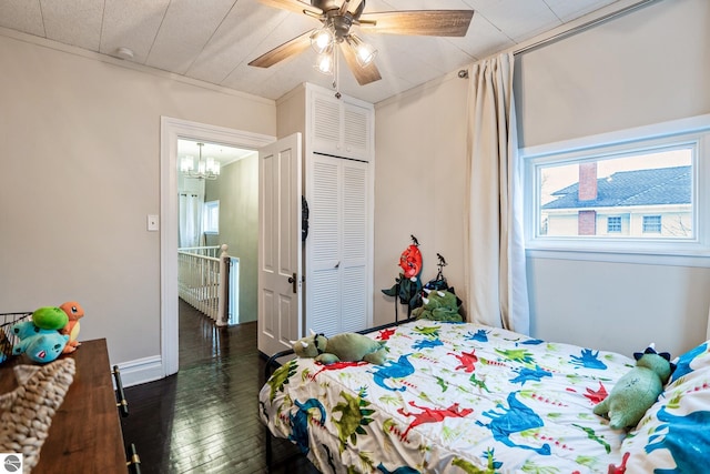
[[[0,312],[77,300],[112,364],[160,355],[160,118],[275,135],[275,103],[44,44],[0,36]]]

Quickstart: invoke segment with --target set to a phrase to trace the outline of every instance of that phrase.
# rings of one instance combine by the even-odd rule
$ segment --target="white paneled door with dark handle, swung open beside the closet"
[[[301,133],[258,152],[257,345],[266,355],[301,337]]]

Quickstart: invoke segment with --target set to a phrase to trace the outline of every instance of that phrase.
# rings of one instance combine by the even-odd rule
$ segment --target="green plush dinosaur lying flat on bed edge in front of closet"
[[[387,349],[384,341],[375,341],[357,333],[342,333],[328,339],[312,330],[311,335],[291,343],[300,357],[313,357],[325,365],[359,361],[382,365],[386,361]]]

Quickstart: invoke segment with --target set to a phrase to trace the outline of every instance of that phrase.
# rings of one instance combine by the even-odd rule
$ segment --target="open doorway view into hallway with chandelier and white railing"
[[[217,325],[256,321],[257,160],[256,150],[178,139],[179,296]]]

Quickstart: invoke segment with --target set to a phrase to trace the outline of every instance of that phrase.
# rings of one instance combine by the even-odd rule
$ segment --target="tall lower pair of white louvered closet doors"
[[[358,331],[368,324],[367,163],[310,158],[306,329]]]

